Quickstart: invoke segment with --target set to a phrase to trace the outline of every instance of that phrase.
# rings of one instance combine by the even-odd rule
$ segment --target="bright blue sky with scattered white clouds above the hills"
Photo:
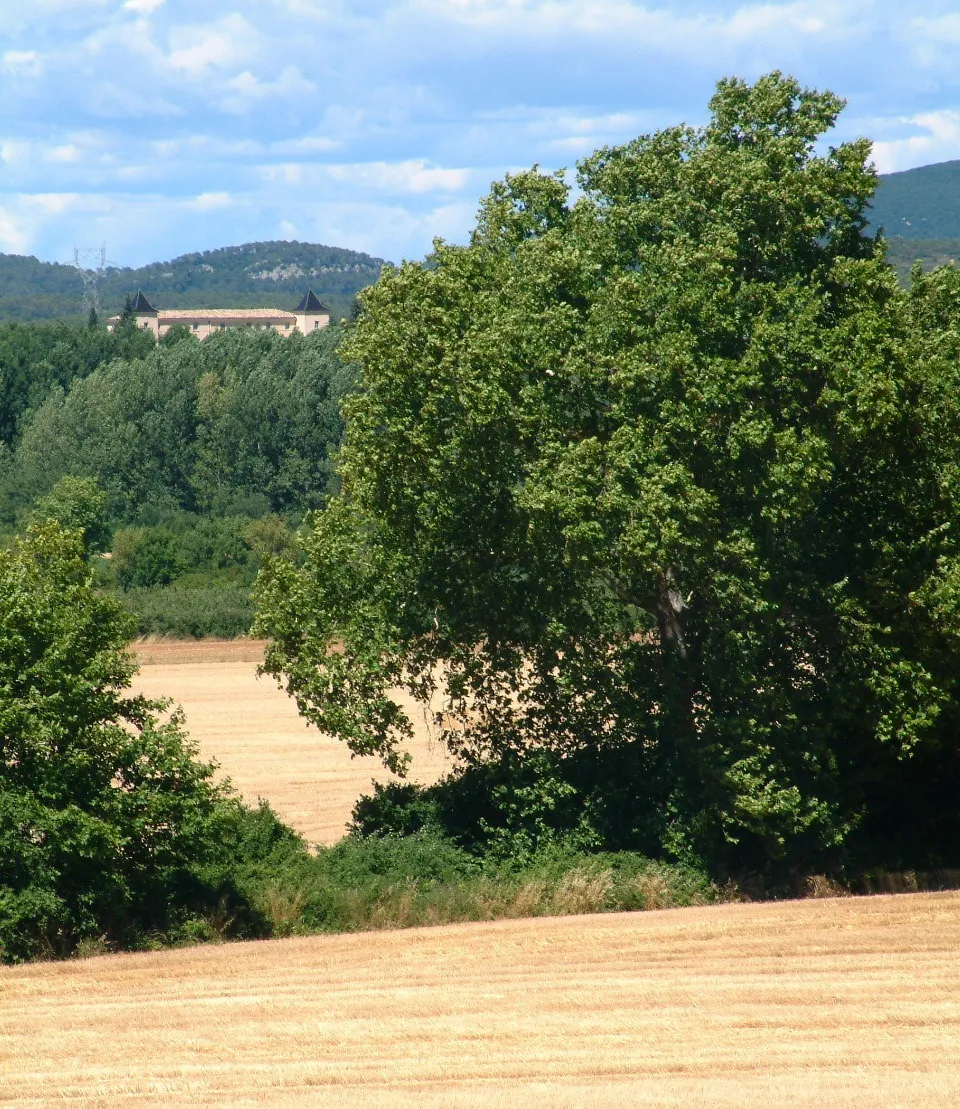
[[[960,157],[960,0],[0,0],[0,251],[253,240],[419,257],[509,170],[830,88],[882,172]]]

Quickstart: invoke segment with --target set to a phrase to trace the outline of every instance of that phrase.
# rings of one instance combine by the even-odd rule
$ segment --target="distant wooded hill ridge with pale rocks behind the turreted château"
[[[127,294],[142,288],[157,308],[293,308],[309,286],[336,319],[384,265],[382,258],[337,246],[245,243],[139,269],[110,267],[100,282],[100,304],[105,316],[114,315]],[[0,322],[79,318],[82,293],[73,266],[0,254]]]

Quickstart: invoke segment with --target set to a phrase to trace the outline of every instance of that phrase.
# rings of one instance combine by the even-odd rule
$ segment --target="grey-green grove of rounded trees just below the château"
[[[127,521],[147,508],[231,515],[249,498],[309,507],[327,485],[351,384],[337,342],[336,328],[235,330],[101,365],[31,414],[7,496],[29,503],[72,474],[95,479]]]

